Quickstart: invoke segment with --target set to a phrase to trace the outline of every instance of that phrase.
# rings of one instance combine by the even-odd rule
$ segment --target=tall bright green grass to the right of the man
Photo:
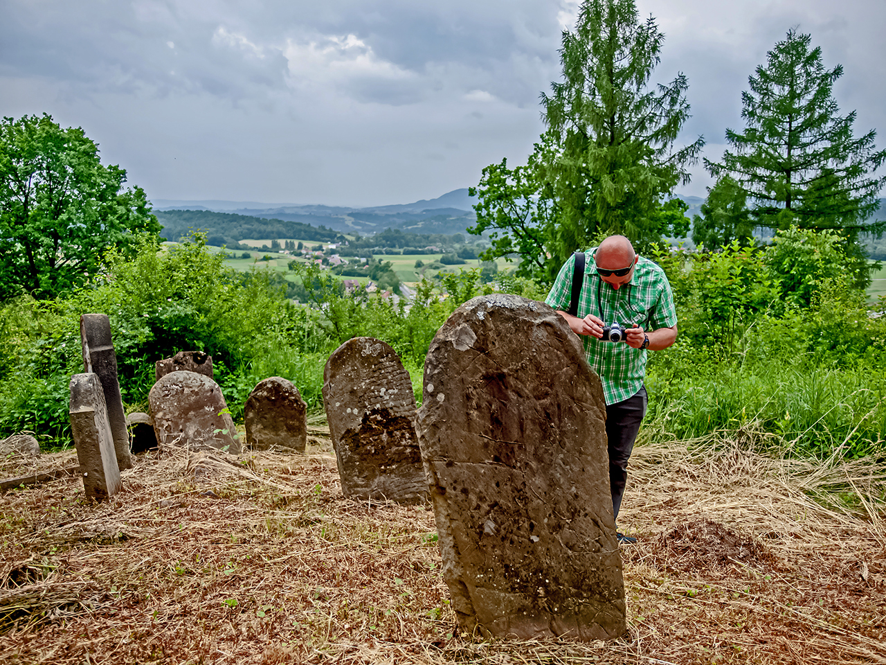
[[[650,372],[650,433],[673,440],[749,426],[782,454],[858,458],[886,451],[886,376],[789,362]]]

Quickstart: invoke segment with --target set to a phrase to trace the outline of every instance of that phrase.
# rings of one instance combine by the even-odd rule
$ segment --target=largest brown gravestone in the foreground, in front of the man
[[[625,633],[605,413],[578,337],[548,305],[481,296],[437,332],[418,434],[464,630]]]

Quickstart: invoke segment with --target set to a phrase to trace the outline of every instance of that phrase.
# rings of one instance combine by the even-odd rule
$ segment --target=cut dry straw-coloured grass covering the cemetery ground
[[[6,493],[0,661],[886,662],[882,464],[640,447],[626,638],[482,642],[455,626],[428,506],[345,499],[314,434],[307,456],[149,453],[105,504],[77,478]]]

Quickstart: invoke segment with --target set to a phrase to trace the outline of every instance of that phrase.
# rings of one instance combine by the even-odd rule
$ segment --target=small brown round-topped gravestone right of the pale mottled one
[[[305,451],[307,404],[291,381],[278,376],[260,381],[246,398],[243,420],[250,448]]]

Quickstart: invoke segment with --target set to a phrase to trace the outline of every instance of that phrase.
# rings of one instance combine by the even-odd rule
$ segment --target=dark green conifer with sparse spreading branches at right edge
[[[742,133],[727,129],[733,150],[719,163],[705,160],[714,176],[731,174],[752,201],[755,222],[771,229],[882,233],[886,222],[866,223],[879,206],[886,176],[870,176],[886,160],[874,147],[876,131],[856,138],[855,112],[839,115],[834,82],[843,66],[826,69],[810,35],[789,30],[766,54],[766,66],[742,92]]]

